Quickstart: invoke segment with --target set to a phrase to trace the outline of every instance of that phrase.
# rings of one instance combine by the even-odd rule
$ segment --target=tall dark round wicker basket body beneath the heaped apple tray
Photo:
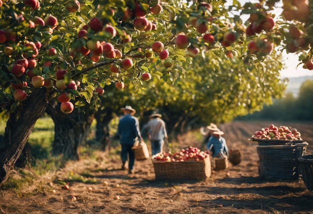
[[[257,145],[259,175],[270,180],[297,180],[297,158],[305,153],[307,142],[294,145]]]

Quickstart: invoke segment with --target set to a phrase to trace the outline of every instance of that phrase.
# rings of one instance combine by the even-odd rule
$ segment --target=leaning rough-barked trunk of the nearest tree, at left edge
[[[38,88],[10,112],[0,141],[0,185],[8,178],[34,124],[42,116],[48,103],[46,95],[44,88]]]

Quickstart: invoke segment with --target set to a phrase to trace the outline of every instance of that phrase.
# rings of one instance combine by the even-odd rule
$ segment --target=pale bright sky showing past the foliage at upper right
[[[259,2],[258,0],[239,0],[241,2],[241,5],[243,5],[245,2]],[[232,0],[227,0],[228,4],[232,3]],[[282,3],[279,2],[277,4],[278,6],[281,6]],[[279,15],[281,13],[281,8],[277,8],[275,10],[272,10],[271,12],[276,13]],[[286,53],[285,51],[282,52],[282,56],[284,59],[284,63],[286,65],[286,68],[281,70],[280,75],[281,77],[299,77],[299,76],[313,76],[313,70],[308,70],[302,68],[302,65],[300,64],[297,67],[298,56],[295,53]]]

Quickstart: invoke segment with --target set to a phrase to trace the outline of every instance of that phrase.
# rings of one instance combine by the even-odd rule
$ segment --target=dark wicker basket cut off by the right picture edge
[[[302,179],[306,188],[313,190],[313,155],[304,155],[298,158],[299,171],[302,174]]]

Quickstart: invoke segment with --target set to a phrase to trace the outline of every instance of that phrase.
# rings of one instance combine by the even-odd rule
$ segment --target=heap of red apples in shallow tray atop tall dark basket
[[[276,126],[269,124],[254,132],[251,141],[257,141],[259,145],[286,145],[303,142],[301,134],[296,128],[288,126]]]

